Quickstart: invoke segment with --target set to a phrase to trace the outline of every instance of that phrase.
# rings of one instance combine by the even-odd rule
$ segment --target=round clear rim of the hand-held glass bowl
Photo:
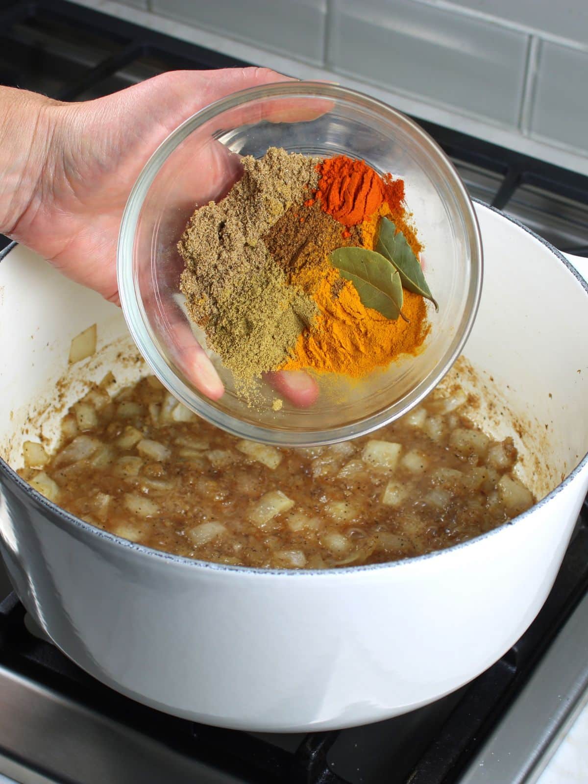
[[[434,371],[430,372],[428,376],[402,398],[403,405],[400,410],[397,410],[398,404],[392,404],[376,414],[365,417],[365,419],[347,425],[335,426],[327,430],[280,430],[248,423],[217,408],[204,396],[193,394],[187,383],[176,372],[172,371],[169,362],[158,349],[154,337],[151,336],[151,327],[136,288],[136,276],[133,270],[136,228],[143,202],[147,197],[151,184],[170,154],[192,132],[224,111],[242,106],[245,103],[252,103],[255,100],[281,96],[322,97],[354,103],[361,106],[363,110],[378,114],[385,122],[399,126],[406,135],[415,137],[419,141],[420,146],[434,158],[441,171],[445,172],[446,180],[462,212],[466,234],[468,234],[472,242],[470,250],[473,271],[466,299],[466,302],[470,303],[470,310],[466,313],[465,319],[462,316],[459,328],[456,329],[456,334],[450,347],[445,351],[443,358],[437,363]],[[481,298],[484,260],[480,227],[477,222],[474,205],[466,191],[466,187],[455,166],[445,155],[445,152],[441,150],[437,142],[424,129],[405,114],[388,106],[387,103],[360,93],[358,90],[328,82],[292,81],[271,82],[266,85],[249,87],[237,93],[230,93],[230,95],[210,103],[195,112],[169,133],[143,166],[129,194],[118,234],[116,266],[122,312],[132,339],[155,376],[183,405],[186,405],[187,408],[190,408],[191,411],[209,423],[236,437],[281,447],[306,447],[335,444],[339,441],[347,441],[350,438],[372,433],[374,430],[378,430],[380,427],[410,411],[437,386],[459,357],[459,354],[461,354],[463,346],[470,336]]]

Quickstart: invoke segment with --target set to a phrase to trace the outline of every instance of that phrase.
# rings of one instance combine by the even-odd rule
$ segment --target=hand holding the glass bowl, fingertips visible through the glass
[[[264,68],[172,71],[83,103],[0,90],[0,155],[7,162],[0,183],[0,230],[118,304],[118,229],[147,159],[202,107],[286,79]],[[234,162],[219,150],[205,167],[211,183],[234,179]],[[209,358],[187,325],[178,329],[183,368],[204,394],[220,397],[223,385]],[[278,374],[275,385],[295,405],[316,398],[316,385],[302,373]]]

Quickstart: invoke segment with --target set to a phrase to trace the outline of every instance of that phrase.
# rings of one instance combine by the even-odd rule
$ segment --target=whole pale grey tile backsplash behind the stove
[[[588,0],[118,2],[588,151]]]

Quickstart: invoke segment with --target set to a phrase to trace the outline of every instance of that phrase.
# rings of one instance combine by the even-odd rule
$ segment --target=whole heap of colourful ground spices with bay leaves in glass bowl
[[[403,180],[364,161],[276,147],[243,158],[178,244],[187,310],[241,389],[281,369],[361,378],[416,354],[429,330],[409,218]]]

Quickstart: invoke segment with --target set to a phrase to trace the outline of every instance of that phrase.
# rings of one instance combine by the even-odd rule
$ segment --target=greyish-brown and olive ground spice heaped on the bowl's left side
[[[316,187],[317,162],[275,147],[260,160],[243,158],[241,180],[218,204],[197,209],[178,243],[188,313],[237,381],[278,367],[317,313],[263,241]]]

